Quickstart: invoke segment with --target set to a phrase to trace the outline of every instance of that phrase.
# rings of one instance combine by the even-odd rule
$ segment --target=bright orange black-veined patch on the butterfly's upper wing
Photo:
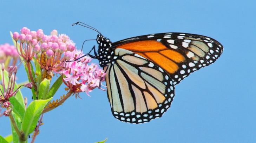
[[[179,67],[177,63],[185,61],[185,57],[182,54],[170,50],[165,45],[155,40],[131,42],[120,45],[117,48],[135,52],[142,57],[157,63],[158,66],[171,74],[178,70]]]

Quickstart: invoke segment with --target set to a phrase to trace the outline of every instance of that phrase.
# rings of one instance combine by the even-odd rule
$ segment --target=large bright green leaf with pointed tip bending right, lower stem
[[[34,131],[44,107],[50,100],[52,100],[52,98],[47,100],[35,100],[29,104],[22,122],[22,131],[25,136],[28,136],[28,134]]]

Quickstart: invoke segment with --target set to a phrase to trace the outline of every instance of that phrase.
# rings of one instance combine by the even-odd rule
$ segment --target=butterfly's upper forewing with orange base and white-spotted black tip
[[[192,72],[215,62],[223,46],[216,40],[188,33],[159,33],[112,44],[149,59],[171,76],[174,85]]]

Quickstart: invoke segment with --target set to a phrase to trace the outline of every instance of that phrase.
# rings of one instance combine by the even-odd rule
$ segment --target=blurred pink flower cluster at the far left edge
[[[8,57],[13,60],[12,65],[16,65],[16,62],[19,59],[19,54],[16,48],[8,43],[0,45],[0,63],[5,62]]]

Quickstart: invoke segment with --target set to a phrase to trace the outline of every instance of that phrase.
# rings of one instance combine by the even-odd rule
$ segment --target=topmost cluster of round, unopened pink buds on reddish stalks
[[[63,63],[68,60],[65,52],[76,49],[75,43],[65,34],[58,35],[57,30],[53,30],[51,35],[45,35],[42,29],[30,31],[24,27],[20,31],[13,33],[13,39],[20,43],[16,47],[19,54],[28,62],[36,57],[41,69],[51,76],[53,71],[61,70]]]

